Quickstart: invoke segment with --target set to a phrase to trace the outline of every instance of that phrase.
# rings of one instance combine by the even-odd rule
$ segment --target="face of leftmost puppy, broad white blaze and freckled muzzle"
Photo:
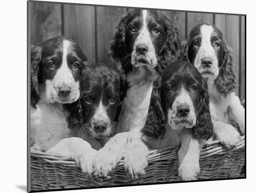
[[[72,40],[54,38],[43,42],[38,75],[43,99],[51,103],[78,100],[83,60],[84,55]]]

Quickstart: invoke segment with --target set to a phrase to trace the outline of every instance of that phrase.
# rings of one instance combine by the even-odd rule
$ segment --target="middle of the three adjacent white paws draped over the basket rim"
[[[109,177],[108,174],[115,170],[117,162],[113,153],[104,149],[99,150],[93,161],[94,176]]]

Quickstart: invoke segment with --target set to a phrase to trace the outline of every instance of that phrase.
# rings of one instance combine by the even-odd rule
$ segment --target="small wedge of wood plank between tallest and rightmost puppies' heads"
[[[185,30],[186,30],[186,23],[185,23],[185,12],[178,12],[178,11],[162,11],[163,14],[168,16],[175,27],[177,27],[180,31],[180,40],[185,40]]]

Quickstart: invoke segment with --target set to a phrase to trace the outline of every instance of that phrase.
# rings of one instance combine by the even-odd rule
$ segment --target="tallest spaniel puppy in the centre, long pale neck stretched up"
[[[107,176],[115,168],[128,136],[140,139],[139,129],[146,121],[153,82],[169,62],[182,56],[181,51],[177,29],[161,12],[135,9],[121,19],[110,54],[121,63],[128,90],[116,128],[118,134],[97,153],[95,175]]]

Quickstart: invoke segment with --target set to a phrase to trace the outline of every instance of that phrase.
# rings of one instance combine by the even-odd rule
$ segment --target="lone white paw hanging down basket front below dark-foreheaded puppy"
[[[182,181],[197,180],[197,176],[199,173],[199,163],[181,163],[178,168],[178,174]]]

